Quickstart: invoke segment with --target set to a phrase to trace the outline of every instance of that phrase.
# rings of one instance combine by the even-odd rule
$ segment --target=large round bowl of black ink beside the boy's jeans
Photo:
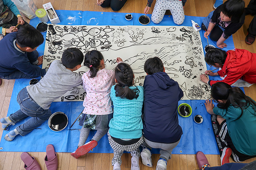
[[[51,130],[59,132],[65,129],[68,125],[69,119],[63,112],[55,112],[48,119],[48,126]]]

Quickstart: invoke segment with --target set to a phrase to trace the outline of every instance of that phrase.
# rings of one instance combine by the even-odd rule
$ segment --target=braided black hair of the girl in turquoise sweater
[[[130,89],[129,86],[133,85],[134,80],[134,72],[130,65],[126,63],[119,63],[117,67],[115,67],[115,79],[117,81],[117,85],[115,85],[115,96],[119,96],[122,99],[134,99],[139,97],[139,89]]]

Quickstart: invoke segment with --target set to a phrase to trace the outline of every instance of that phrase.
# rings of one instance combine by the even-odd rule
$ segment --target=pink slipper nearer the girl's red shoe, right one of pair
[[[58,158],[53,145],[46,146],[45,165],[47,170],[58,169]]]

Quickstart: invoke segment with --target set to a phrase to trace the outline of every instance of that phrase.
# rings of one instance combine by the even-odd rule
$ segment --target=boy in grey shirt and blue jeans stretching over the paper
[[[82,84],[82,76],[73,72],[81,67],[82,62],[82,51],[76,48],[67,49],[63,52],[61,61],[55,60],[51,63],[39,83],[20,90],[17,97],[20,110],[0,119],[2,128],[8,130],[9,125],[15,125],[28,116],[31,118],[11,130],[4,139],[12,141],[18,134],[25,136],[48,120],[52,114],[49,109],[51,103],[72,87]]]

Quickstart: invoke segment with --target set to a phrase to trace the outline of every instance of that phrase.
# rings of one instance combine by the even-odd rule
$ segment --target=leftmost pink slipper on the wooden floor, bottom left
[[[41,170],[41,167],[37,160],[34,157],[30,156],[30,154],[28,154],[27,152],[23,152],[20,157],[25,163],[24,168],[26,170]]]

